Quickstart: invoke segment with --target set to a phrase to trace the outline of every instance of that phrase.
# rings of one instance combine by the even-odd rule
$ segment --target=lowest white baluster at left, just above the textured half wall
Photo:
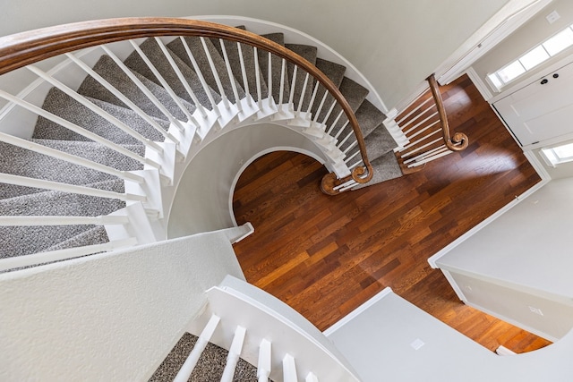
[[[136,244],[137,239],[128,238],[114,242],[105,242],[103,244],[86,245],[83,247],[68,248],[65,250],[51,250],[49,252],[40,252],[32,255],[0,259],[0,271],[17,267],[30,267],[51,261],[73,259],[94,253],[107,252],[108,250],[131,247]]]

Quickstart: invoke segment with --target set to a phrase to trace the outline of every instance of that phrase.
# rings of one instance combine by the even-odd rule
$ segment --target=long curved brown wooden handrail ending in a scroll
[[[330,95],[342,107],[355,132],[365,168],[356,167],[352,179],[367,183],[372,179],[373,169],[366,155],[366,145],[356,116],[337,86],[316,66],[296,55],[291,50],[252,32],[209,21],[176,18],[121,18],[98,21],[81,21],[30,30],[0,38],[0,75],[38,61],[73,52],[86,47],[95,47],[131,38],[160,36],[201,36],[223,38],[266,50],[296,64],[321,82]],[[360,177],[361,174],[367,174]],[[337,183],[345,180],[337,180]]]

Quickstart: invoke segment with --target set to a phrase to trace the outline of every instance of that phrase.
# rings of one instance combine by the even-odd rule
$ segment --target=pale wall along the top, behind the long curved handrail
[[[2,0],[0,35],[124,16],[236,14],[302,30],[363,72],[391,108],[509,0]],[[530,0],[512,0],[526,3]],[[358,5],[358,6],[356,6]]]

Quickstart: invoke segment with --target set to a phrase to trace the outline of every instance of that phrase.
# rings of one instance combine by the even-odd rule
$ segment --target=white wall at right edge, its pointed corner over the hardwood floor
[[[466,301],[559,338],[573,327],[571,216],[573,178],[553,180],[437,264],[453,273]]]

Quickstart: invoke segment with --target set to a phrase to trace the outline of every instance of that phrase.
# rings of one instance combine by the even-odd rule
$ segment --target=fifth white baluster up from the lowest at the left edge
[[[120,145],[112,142],[111,140],[106,140],[105,138],[101,138],[98,134],[94,134],[93,132],[85,130],[84,128],[78,126],[77,124],[68,122],[68,121],[64,120],[64,118],[59,117],[57,115],[53,115],[52,113],[49,113],[46,110],[44,110],[38,106],[32,105],[29,102],[24,101],[23,99],[14,97],[12,94],[6,93],[4,90],[0,90],[0,98],[4,98],[10,102],[13,102],[16,105],[24,107],[25,109],[29,110],[30,112],[32,112],[36,115],[43,116],[47,120],[50,120],[54,123],[60,124],[60,125],[64,126],[66,129],[71,130],[72,132],[77,132],[78,134],[88,138],[89,140],[94,140],[94,141],[106,146],[109,149],[113,149],[113,150],[117,151],[118,153],[123,154],[125,157],[131,157],[132,159],[135,159],[144,165],[153,166],[155,168],[161,168],[161,166],[155,161],[152,161],[152,160],[145,158],[145,157],[140,157],[139,155],[135,154],[133,151],[125,149],[123,146],[120,146]]]

